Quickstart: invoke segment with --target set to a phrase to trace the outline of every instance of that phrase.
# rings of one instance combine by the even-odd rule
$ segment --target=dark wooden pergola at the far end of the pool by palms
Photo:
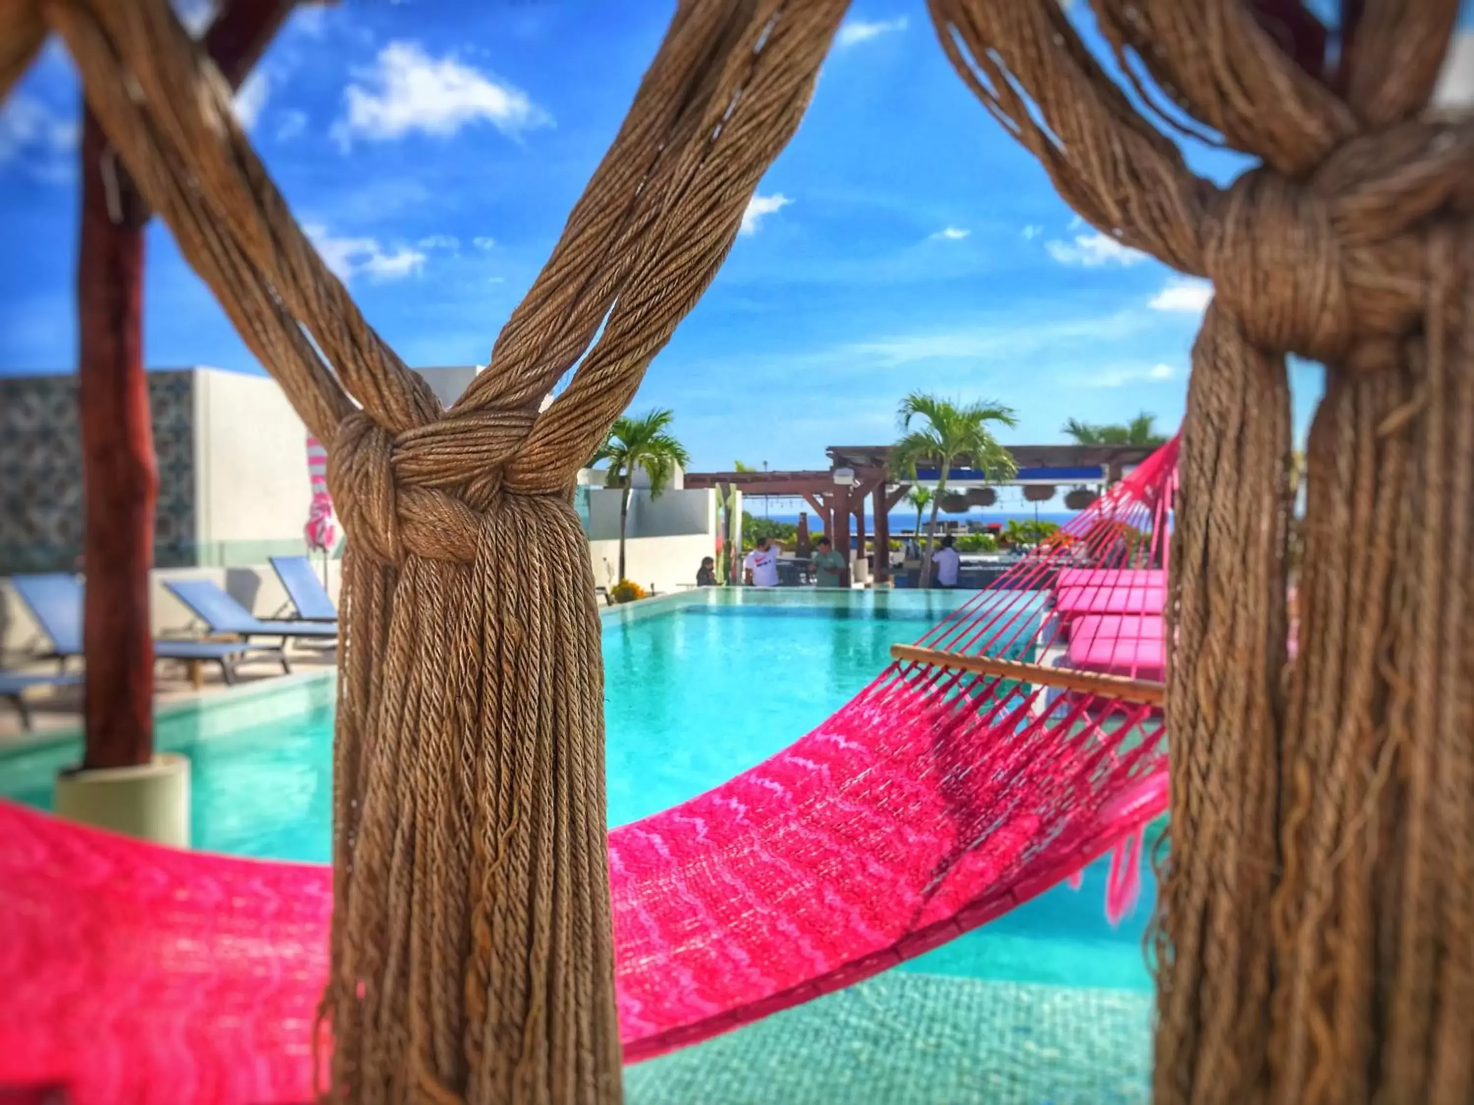
[[[1154,445],[1008,445],[1019,471],[1007,480],[988,479],[982,471],[955,467],[948,471],[951,486],[967,485],[1027,485],[1027,483],[1103,483],[1111,485],[1125,470],[1139,464],[1156,449]],[[793,471],[691,471],[685,486],[736,488],[743,495],[802,498],[824,522],[824,532],[839,550],[855,541],[861,555],[865,551],[865,507],[874,517],[874,545],[890,545],[890,511],[915,483],[933,483],[940,473],[917,470],[901,479],[890,470],[889,445],[831,445],[825,449],[828,469]],[[853,529],[850,529],[853,523]],[[876,582],[890,579],[889,557],[876,557]],[[849,570],[843,572],[849,585]]]

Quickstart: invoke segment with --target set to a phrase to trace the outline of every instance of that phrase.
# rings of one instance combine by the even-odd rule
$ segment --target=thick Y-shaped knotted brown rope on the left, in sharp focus
[[[678,6],[491,364],[442,411],[295,222],[167,0],[0,0],[0,94],[60,32],[143,196],[329,449],[349,535],[329,1096],[621,1096],[573,482],[731,248],[845,6]]]

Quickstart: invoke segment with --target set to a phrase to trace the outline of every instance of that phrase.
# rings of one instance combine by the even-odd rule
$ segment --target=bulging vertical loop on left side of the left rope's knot
[[[327,454],[327,483],[357,548],[398,564],[404,555],[394,485],[394,439],[363,411],[338,426]]]

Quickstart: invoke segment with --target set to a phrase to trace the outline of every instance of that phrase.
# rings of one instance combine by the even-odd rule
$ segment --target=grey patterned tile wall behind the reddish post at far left
[[[196,563],[195,382],[149,374],[159,466],[155,563]],[[0,379],[0,575],[68,570],[81,554],[83,479],[77,377]]]

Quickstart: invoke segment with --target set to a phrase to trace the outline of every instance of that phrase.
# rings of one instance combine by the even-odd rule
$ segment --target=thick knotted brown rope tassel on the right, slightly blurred
[[[1458,3],[1368,0],[1343,96],[1241,0],[1091,6],[1120,69],[1154,80],[1129,77],[1141,100],[1170,100],[1154,121],[1060,4],[930,0],[1082,217],[1213,281],[1176,508],[1154,1099],[1464,1105],[1474,133],[1421,119]],[[1194,177],[1163,133],[1201,133],[1184,116],[1260,166]],[[1328,367],[1294,662],[1285,354]]]

